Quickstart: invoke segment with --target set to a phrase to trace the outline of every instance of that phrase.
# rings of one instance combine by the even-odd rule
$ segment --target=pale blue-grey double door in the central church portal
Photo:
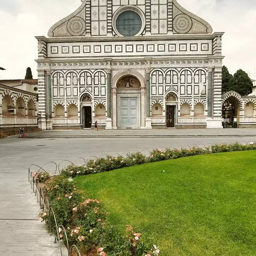
[[[137,98],[121,98],[121,128],[138,126]]]

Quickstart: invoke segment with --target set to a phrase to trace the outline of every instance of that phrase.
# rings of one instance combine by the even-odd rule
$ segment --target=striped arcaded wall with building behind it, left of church
[[[0,138],[38,130],[38,83],[32,80],[0,80]]]

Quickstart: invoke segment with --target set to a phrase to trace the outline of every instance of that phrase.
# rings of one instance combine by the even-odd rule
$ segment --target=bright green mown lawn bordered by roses
[[[256,151],[173,159],[76,181],[111,212],[112,224],[153,235],[162,256],[256,255]]]

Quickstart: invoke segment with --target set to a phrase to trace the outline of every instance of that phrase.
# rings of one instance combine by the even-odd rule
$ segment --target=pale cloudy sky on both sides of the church
[[[222,38],[224,65],[242,68],[254,78],[256,65],[255,0],[178,0],[207,20]],[[0,0],[0,79],[23,79],[31,67],[37,78],[37,41],[58,20],[75,11],[81,0]]]

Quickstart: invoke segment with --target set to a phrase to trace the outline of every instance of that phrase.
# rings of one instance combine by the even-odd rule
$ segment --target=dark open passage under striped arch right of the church
[[[224,128],[238,128],[240,117],[239,101],[234,96],[222,103],[222,125]]]

